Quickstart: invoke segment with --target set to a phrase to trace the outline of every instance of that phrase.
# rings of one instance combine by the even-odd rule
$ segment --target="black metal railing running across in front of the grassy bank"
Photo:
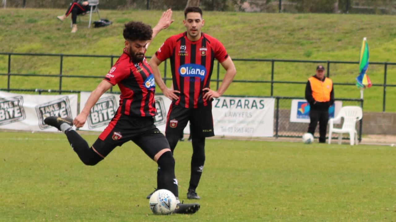
[[[61,94],[62,92],[79,92],[79,90],[76,87],[73,87],[72,90],[65,90],[63,89],[63,80],[65,78],[91,78],[91,79],[103,79],[103,75],[65,75],[64,74],[64,59],[65,58],[70,58],[70,57],[89,57],[89,58],[108,58],[109,59],[109,68],[114,64],[114,58],[118,58],[118,56],[113,56],[113,55],[63,55],[63,54],[32,54],[32,53],[0,53],[0,55],[6,56],[7,58],[7,72],[6,73],[0,73],[0,76],[6,76],[7,78],[7,87],[6,88],[0,88],[0,90],[7,90],[7,91],[25,91],[25,92],[48,92],[48,89],[41,89],[41,88],[12,88],[10,87],[10,83],[13,79],[13,77],[53,77],[53,78],[58,78],[59,82],[58,87],[56,89],[51,89],[50,92],[57,92]],[[58,57],[59,58],[59,74],[43,74],[43,73],[15,73],[13,72],[13,56],[50,56],[50,57]],[[234,79],[233,83],[242,83],[242,84],[255,84],[256,86],[262,86],[264,84],[267,84],[269,87],[268,93],[265,94],[252,94],[251,96],[281,96],[279,93],[275,93],[275,86],[282,85],[284,84],[300,84],[303,86],[307,83],[306,81],[277,81],[275,79],[275,65],[276,64],[282,64],[284,66],[284,63],[287,64],[295,64],[295,63],[308,63],[310,66],[310,70],[312,70],[312,66],[310,64],[325,64],[326,71],[327,71],[327,77],[330,76],[332,67],[335,66],[336,64],[358,64],[358,62],[346,62],[346,61],[324,61],[324,60],[278,60],[278,59],[238,59],[234,58],[234,62],[248,62],[249,64],[256,64],[257,67],[261,68],[262,66],[270,66],[268,69],[268,74],[270,77],[267,77],[267,80],[247,80],[247,79]],[[387,84],[387,75],[388,75],[388,66],[390,65],[396,65],[396,63],[390,63],[390,62],[370,62],[370,65],[379,65],[383,66],[384,70],[384,78],[383,78],[383,83],[375,83],[373,84],[373,87],[382,87],[382,111],[385,112],[386,108],[386,89],[388,87],[396,87],[394,84]],[[213,82],[216,82],[216,88],[219,88],[219,85],[222,81],[222,76],[221,76],[221,71],[220,71],[220,64],[217,61],[215,67],[216,71],[213,73],[212,80]],[[282,67],[281,66],[281,67]],[[106,70],[101,71],[101,73],[105,73],[109,70],[109,68],[106,68]],[[168,60],[164,61],[164,81],[165,83],[169,80],[171,80],[171,77],[169,77],[169,67],[168,67]],[[223,70],[222,70],[223,71]],[[262,71],[262,70],[261,70]],[[280,72],[278,72],[280,74]],[[277,74],[278,74],[277,73]],[[334,80],[334,79],[333,79]],[[339,82],[334,82],[334,85],[341,85],[341,86],[355,86],[355,83],[339,83]],[[278,88],[280,88],[278,87]],[[70,88],[70,87],[69,87]],[[277,89],[278,89],[277,88]],[[76,90],[77,89],[77,90]],[[91,89],[84,89],[84,90],[91,90]],[[112,92],[112,89],[110,89]],[[246,95],[246,94],[244,94]],[[336,97],[339,97],[336,95]]]

